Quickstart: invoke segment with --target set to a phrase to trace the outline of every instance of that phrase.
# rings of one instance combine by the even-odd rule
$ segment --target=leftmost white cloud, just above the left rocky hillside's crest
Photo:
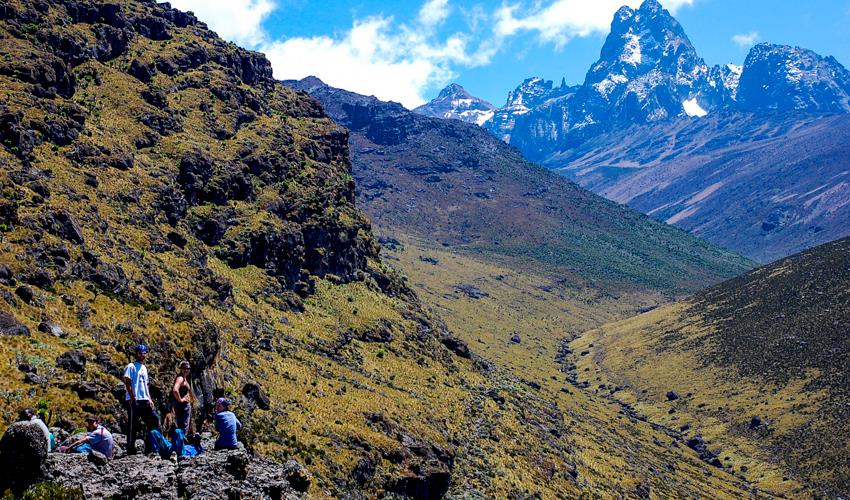
[[[225,40],[249,48],[266,41],[262,23],[277,8],[273,0],[171,0],[171,5],[194,12]]]

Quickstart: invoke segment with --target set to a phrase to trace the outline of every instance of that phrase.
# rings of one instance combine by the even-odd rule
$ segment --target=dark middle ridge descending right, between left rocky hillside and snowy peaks
[[[358,196],[380,226],[554,266],[576,284],[675,294],[748,266],[529,164],[480,127],[420,116],[314,78],[286,83],[351,129]]]

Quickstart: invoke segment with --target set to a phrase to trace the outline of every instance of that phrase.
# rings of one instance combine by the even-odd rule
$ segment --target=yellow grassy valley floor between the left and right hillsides
[[[509,369],[563,413],[581,491],[601,497],[714,498],[756,491],[740,474],[702,461],[679,433],[637,420],[612,398],[568,382],[561,364],[568,355],[566,341],[656,307],[662,296],[577,289],[551,271],[517,261],[436,247],[396,231],[378,232],[390,241],[385,260],[408,276],[473,352]],[[520,425],[524,417],[518,416]],[[764,490],[758,494],[771,496]]]

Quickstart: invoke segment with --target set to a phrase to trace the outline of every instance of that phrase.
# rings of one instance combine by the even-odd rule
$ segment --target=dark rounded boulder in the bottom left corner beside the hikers
[[[15,422],[0,439],[0,490],[20,493],[43,475],[47,440],[34,422]]]

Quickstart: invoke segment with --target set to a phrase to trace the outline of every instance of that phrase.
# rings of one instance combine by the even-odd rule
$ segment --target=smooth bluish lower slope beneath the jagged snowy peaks
[[[634,126],[546,165],[761,262],[850,235],[850,114]]]

